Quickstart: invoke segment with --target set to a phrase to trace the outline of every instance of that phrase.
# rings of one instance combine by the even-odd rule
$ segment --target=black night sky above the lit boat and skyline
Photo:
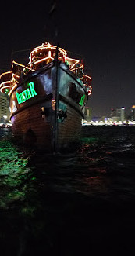
[[[111,108],[135,104],[135,14],[130,2],[57,1],[5,2],[0,15],[0,72],[9,71],[12,50],[33,49],[42,42],[59,42],[83,58],[92,76],[87,105],[94,116]],[[58,35],[56,36],[56,31]],[[27,62],[27,52],[13,57]],[[71,54],[71,53],[70,53]],[[71,56],[73,57],[73,56]]]

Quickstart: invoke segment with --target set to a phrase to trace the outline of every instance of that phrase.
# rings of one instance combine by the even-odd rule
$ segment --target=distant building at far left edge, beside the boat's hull
[[[0,93],[0,122],[9,121],[9,99],[4,93]]]

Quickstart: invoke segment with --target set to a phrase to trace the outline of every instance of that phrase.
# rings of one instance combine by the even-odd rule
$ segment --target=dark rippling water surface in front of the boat
[[[135,127],[83,127],[79,148],[58,155],[3,151],[1,255],[131,255]]]

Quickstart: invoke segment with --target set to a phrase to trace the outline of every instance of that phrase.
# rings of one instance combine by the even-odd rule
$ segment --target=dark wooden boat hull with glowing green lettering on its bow
[[[58,151],[79,140],[86,102],[87,91],[68,67],[48,64],[12,90],[12,136],[48,152]]]

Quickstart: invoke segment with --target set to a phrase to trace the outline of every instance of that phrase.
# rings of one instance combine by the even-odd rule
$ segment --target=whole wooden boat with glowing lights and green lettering
[[[9,94],[12,136],[47,151],[80,138],[83,112],[91,94],[91,77],[83,62],[45,42],[30,52],[27,65],[12,61],[0,76],[0,90]]]

